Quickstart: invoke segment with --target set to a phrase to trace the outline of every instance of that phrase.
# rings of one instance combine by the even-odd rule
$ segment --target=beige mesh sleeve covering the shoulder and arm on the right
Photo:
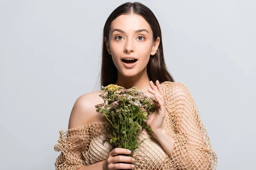
[[[201,121],[198,107],[189,89],[181,82],[168,82],[164,90],[166,111],[173,114],[172,155],[169,169],[215,170],[217,155]]]

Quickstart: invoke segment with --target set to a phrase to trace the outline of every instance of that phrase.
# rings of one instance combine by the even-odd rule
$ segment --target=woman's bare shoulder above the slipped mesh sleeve
[[[100,122],[101,114],[96,112],[95,105],[103,103],[103,99],[99,96],[100,91],[94,91],[83,94],[76,99],[76,102],[70,113],[68,129],[79,127],[90,122]]]

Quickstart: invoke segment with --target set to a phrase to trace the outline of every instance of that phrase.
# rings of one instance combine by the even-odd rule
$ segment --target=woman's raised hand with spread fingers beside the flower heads
[[[163,90],[160,86],[159,81],[156,81],[157,87],[152,81],[149,82],[149,85],[151,86],[151,88],[149,88],[148,91],[151,94],[154,94],[157,101],[157,108],[154,112],[148,114],[146,125],[154,131],[154,133],[152,133],[152,135],[154,136],[162,130],[163,119],[166,116],[166,105]]]

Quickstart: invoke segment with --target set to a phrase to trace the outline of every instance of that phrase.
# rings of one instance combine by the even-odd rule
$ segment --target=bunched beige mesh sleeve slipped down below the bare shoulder
[[[56,170],[77,170],[79,167],[88,166],[84,160],[91,139],[88,127],[89,124],[59,131],[58,143],[54,145],[55,151],[61,151],[55,161]]]

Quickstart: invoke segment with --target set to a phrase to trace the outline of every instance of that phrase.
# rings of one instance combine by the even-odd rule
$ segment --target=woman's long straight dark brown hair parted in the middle
[[[109,41],[110,25],[116,17],[122,14],[138,14],[142,16],[150,25],[153,31],[153,40],[157,40],[160,37],[160,44],[157,48],[157,53],[154,56],[150,55],[150,59],[147,65],[147,73],[150,80],[155,82],[158,80],[160,83],[165,81],[175,82],[172,76],[169,74],[163,57],[163,44],[162,33],[157,18],[153,12],[139,2],[128,2],[117,7],[108,17],[104,29],[103,29],[103,41],[102,41],[102,66],[101,66],[101,86],[107,86],[114,84],[117,80],[117,68],[113,63],[111,54],[108,54],[104,37]]]

